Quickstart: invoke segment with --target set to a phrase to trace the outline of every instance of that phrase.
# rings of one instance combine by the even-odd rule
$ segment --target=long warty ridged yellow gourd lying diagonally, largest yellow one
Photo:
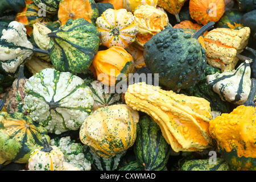
[[[150,115],[160,126],[175,152],[201,151],[212,147],[210,103],[204,98],[176,94],[159,86],[138,82],[129,85],[126,104]]]

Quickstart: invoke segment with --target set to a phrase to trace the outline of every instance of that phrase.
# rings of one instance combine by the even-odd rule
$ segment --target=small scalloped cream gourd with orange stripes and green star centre
[[[97,18],[96,24],[101,44],[108,48],[125,48],[135,41],[138,33],[135,16],[126,9],[107,9]]]

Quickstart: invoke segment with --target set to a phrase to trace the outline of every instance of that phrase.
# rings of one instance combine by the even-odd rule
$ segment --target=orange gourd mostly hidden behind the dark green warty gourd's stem
[[[203,27],[201,24],[193,23],[189,20],[184,20],[178,24],[175,24],[174,28],[182,28],[184,32],[191,33],[192,35],[195,34],[197,30],[199,30],[201,27]],[[203,35],[199,36],[198,41],[201,44],[201,46],[204,47],[204,36],[208,34],[208,31],[205,31]]]

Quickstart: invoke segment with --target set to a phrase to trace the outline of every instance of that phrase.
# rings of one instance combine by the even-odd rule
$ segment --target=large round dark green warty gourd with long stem
[[[207,57],[197,39],[213,24],[206,24],[193,35],[167,27],[144,44],[144,62],[152,73],[159,73],[160,85],[184,89],[199,82]]]

